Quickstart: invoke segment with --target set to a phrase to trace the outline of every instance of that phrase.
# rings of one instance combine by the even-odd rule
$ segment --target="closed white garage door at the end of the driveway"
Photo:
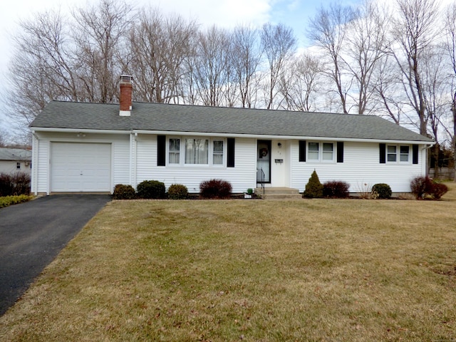
[[[110,170],[110,144],[51,145],[51,192],[110,192]]]

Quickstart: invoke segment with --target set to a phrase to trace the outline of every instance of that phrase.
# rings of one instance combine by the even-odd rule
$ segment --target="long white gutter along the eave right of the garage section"
[[[259,135],[259,134],[239,134],[239,133],[207,133],[207,132],[182,132],[169,130],[133,130],[135,134],[153,134],[153,135],[189,135],[189,136],[209,136],[209,137],[229,137],[229,138],[254,138],[270,140],[320,140],[320,141],[347,141],[347,142],[384,142],[396,144],[420,144],[435,145],[434,141],[422,140],[387,140],[387,139],[360,139],[360,138],[327,138],[311,137],[296,135]]]

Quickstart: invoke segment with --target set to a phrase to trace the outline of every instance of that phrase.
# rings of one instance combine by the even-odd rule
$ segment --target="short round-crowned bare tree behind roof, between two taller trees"
[[[286,109],[315,111],[316,98],[322,88],[322,65],[318,57],[309,53],[297,57],[280,80],[280,91],[286,102]]]

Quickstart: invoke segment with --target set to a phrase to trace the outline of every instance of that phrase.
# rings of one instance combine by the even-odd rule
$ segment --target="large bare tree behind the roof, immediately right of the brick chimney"
[[[147,102],[179,103],[183,61],[189,57],[195,22],[181,16],[164,17],[157,9],[142,11],[130,31],[131,59],[124,68],[135,75],[135,98]]]

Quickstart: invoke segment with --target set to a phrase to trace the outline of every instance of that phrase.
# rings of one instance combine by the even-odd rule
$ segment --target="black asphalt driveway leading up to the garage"
[[[0,316],[109,201],[52,195],[0,209]]]

